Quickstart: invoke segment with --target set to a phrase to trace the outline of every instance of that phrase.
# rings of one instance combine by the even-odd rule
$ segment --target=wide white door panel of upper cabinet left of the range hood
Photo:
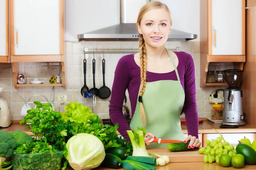
[[[15,55],[60,54],[59,0],[14,0],[14,23]]]

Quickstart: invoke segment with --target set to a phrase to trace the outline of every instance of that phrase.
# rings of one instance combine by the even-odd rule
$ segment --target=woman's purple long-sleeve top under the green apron
[[[198,112],[196,105],[196,87],[195,87],[195,65],[192,56],[186,52],[175,52],[178,58],[177,71],[180,77],[180,83],[185,91],[185,101],[183,111],[185,114],[188,135],[198,138]],[[153,73],[147,71],[147,82],[159,80],[176,80],[174,71],[169,73]],[[147,86],[146,86],[147,87]],[[122,113],[125,91],[128,89],[131,102],[131,118],[137,104],[137,96],[140,91],[140,67],[134,60],[134,54],[121,57],[116,65],[113,87],[111,92],[111,101],[109,108],[110,119],[115,125],[118,123],[119,133],[130,141],[126,130],[131,130]]]

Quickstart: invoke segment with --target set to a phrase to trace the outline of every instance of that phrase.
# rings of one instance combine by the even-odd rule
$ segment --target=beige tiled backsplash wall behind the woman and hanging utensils
[[[65,42],[65,74],[66,74],[66,89],[62,87],[54,87],[54,93],[52,87],[21,87],[17,91],[13,85],[12,68],[10,64],[0,65],[0,87],[3,87],[3,92],[0,93],[0,97],[7,100],[9,108],[12,113],[12,120],[21,120],[20,111],[25,103],[35,94],[42,94],[52,101],[54,96],[54,106],[57,105],[57,95],[66,94],[68,102],[78,101],[83,105],[87,105],[90,108],[93,106],[92,99],[84,99],[81,96],[80,90],[84,85],[83,75],[83,59],[84,47],[88,47],[89,51],[138,51],[138,42]],[[176,47],[180,47],[181,51],[188,52],[192,55],[195,62],[195,77],[196,77],[196,99],[198,105],[199,117],[208,117],[210,115],[211,105],[208,103],[209,94],[213,90],[219,87],[200,88],[200,42],[166,42],[166,48],[169,50],[176,50]],[[112,88],[114,71],[118,60],[126,54],[104,54],[105,57],[105,85]],[[96,88],[100,88],[103,85],[102,82],[102,59],[103,54],[95,54],[96,59]],[[87,86],[93,87],[93,74],[92,74],[92,59],[93,54],[88,54],[87,59],[87,74],[86,82]],[[46,63],[46,62],[24,62],[20,63],[20,74],[24,74],[28,79],[38,78],[42,81],[49,81],[52,75],[59,73],[59,63]],[[128,96],[128,93],[127,93]],[[24,98],[24,99],[23,99]],[[34,97],[31,101],[39,100],[44,102],[42,97]],[[102,119],[109,119],[108,112],[108,99],[99,99],[97,97],[97,104],[93,108],[94,113],[98,113]],[[127,103],[130,108],[128,99]],[[59,105],[61,111],[64,109],[64,105]],[[55,110],[59,110],[59,106],[55,107]],[[130,108],[131,110],[131,108]],[[184,117],[184,114],[182,115]]]

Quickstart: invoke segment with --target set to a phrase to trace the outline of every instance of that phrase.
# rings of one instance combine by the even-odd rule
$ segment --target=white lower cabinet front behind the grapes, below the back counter
[[[222,133],[224,139],[230,144],[236,146],[239,140],[245,138],[249,139],[251,143],[255,140],[255,133]],[[207,139],[215,139],[219,137],[218,133],[207,134]]]

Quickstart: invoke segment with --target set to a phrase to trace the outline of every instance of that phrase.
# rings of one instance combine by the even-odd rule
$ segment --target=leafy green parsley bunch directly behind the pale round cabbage
[[[130,142],[127,142],[125,138],[119,137],[116,134],[118,129],[118,124],[115,126],[100,125],[99,122],[101,119],[97,114],[93,114],[90,119],[86,122],[71,122],[60,121],[59,125],[54,129],[56,135],[50,133],[46,134],[46,138],[50,143],[53,143],[59,150],[66,149],[66,143],[68,139],[78,133],[89,133],[98,137],[102,144],[104,145],[105,150],[110,147],[125,147],[128,153],[132,153],[132,146]]]

